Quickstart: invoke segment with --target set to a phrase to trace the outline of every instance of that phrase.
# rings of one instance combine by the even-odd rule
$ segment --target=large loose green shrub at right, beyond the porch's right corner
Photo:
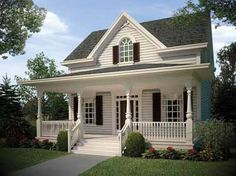
[[[202,141],[204,149],[216,153],[229,154],[231,141],[234,137],[232,123],[226,123],[217,119],[208,120],[197,124],[196,133]]]

